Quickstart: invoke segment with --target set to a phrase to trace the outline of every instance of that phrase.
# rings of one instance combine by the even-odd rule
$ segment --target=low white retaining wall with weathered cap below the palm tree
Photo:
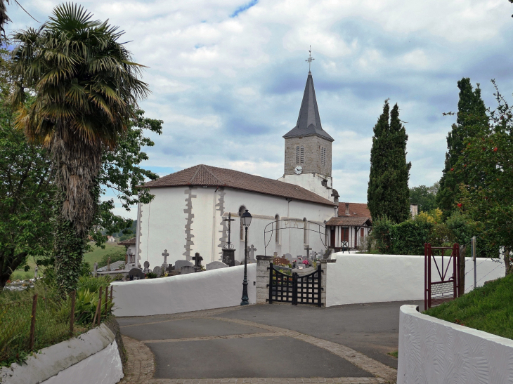
[[[105,324],[0,369],[2,384],[115,384],[122,378],[115,335]]]

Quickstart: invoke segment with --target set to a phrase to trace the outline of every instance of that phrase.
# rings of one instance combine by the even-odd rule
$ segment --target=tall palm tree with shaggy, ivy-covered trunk
[[[104,150],[126,131],[131,110],[148,93],[141,65],[107,21],[62,4],[39,29],[16,32],[12,53],[16,125],[51,151],[56,185],[56,277],[61,293],[78,281],[86,239],[97,213]],[[34,102],[25,106],[25,90]]]

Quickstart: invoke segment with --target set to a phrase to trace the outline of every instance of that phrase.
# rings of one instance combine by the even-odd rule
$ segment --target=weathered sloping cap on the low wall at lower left
[[[43,348],[36,355],[28,357],[22,365],[13,363],[10,367],[0,369],[0,383],[41,383],[105,349],[114,340],[114,333],[108,326],[101,324],[76,338]]]

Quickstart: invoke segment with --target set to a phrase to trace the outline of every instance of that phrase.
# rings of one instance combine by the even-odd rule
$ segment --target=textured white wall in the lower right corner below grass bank
[[[337,261],[338,263],[338,261]],[[397,384],[513,383],[513,340],[401,306]]]

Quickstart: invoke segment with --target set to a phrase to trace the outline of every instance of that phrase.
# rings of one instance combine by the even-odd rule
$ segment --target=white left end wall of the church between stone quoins
[[[186,244],[186,198],[188,187],[152,188],[155,199],[141,206],[140,260],[148,260],[150,267],[162,265],[162,252],[167,249],[168,263],[183,260]],[[197,190],[193,190],[195,194]],[[193,202],[195,199],[192,199]]]

